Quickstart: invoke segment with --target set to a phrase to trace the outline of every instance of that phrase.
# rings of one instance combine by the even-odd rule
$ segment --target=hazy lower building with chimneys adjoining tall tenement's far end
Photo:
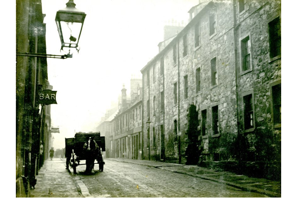
[[[110,156],[142,159],[142,79],[131,79],[131,100],[123,86],[117,114],[110,121]]]

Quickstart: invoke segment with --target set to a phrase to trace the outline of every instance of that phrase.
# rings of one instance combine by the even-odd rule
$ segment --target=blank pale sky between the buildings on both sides
[[[42,0],[47,24],[47,53],[60,51],[55,14],[68,0]],[[117,102],[123,84],[130,93],[132,75],[158,53],[165,22],[188,23],[191,7],[198,0],[74,0],[87,16],[72,58],[48,58],[48,79],[57,91],[57,104],[51,104],[53,147],[64,148],[64,138],[75,132],[96,132],[100,119]]]

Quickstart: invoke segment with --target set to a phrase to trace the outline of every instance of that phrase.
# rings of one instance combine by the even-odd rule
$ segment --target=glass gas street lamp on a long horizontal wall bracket
[[[86,13],[75,8],[73,0],[66,3],[66,7],[57,11],[55,21],[61,41],[61,50],[69,48],[68,54],[53,55],[45,53],[31,53],[31,52],[16,52],[19,56],[33,56],[46,58],[72,58],[70,49],[74,48],[79,51],[78,42],[82,33],[83,25],[86,18]]]

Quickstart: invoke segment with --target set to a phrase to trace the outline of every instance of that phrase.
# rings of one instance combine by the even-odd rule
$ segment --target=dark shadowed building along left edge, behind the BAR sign
[[[41,0],[16,1],[16,54],[46,53]],[[50,107],[37,94],[50,89],[47,58],[16,55],[16,197],[30,197],[35,176],[49,152]],[[40,155],[40,144],[44,155]]]

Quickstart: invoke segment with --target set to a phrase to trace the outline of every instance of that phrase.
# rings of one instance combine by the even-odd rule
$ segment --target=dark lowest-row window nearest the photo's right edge
[[[273,122],[275,125],[282,123],[282,84],[272,87]]]

